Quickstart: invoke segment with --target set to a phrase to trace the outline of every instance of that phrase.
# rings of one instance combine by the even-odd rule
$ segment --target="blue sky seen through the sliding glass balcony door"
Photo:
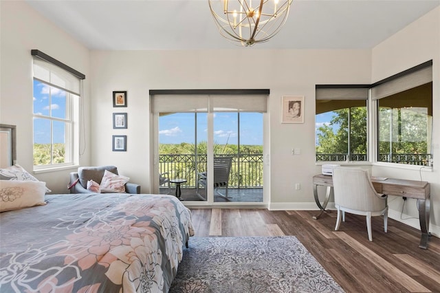
[[[263,114],[240,113],[240,144],[263,145]],[[195,114],[174,113],[159,118],[159,142],[178,144],[195,142]],[[206,141],[207,113],[197,113],[197,141]],[[233,112],[214,113],[214,142],[238,143],[238,116]]]

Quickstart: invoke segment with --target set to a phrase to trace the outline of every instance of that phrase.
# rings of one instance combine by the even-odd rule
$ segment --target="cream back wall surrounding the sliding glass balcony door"
[[[369,83],[371,50],[236,50],[91,52],[91,162],[116,164],[151,192],[150,89],[270,89],[268,115],[271,208],[316,208],[316,83]],[[113,108],[112,91],[127,91]],[[305,96],[305,123],[281,124],[281,96]],[[112,112],[128,113],[128,129],[112,129]],[[127,151],[111,151],[111,135],[127,135]],[[291,155],[299,148],[300,155]],[[270,184],[269,184],[270,183]],[[295,191],[294,184],[301,189]]]

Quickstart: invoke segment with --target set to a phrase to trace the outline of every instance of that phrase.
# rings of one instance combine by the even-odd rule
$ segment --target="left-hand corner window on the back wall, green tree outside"
[[[316,162],[368,161],[366,85],[316,85]]]

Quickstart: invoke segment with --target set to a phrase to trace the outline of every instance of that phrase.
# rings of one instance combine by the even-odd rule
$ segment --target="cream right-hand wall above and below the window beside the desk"
[[[431,185],[430,231],[440,235],[440,8],[436,8],[408,25],[404,30],[391,36],[373,48],[372,82],[382,80],[415,65],[432,59],[432,99],[434,117],[432,172],[426,169],[399,169],[387,166],[373,166],[373,175],[397,177],[408,180],[423,180]],[[401,208],[404,201],[398,197],[390,198],[390,215],[401,221]],[[403,218],[406,224],[419,227],[417,204],[415,199],[408,199]]]

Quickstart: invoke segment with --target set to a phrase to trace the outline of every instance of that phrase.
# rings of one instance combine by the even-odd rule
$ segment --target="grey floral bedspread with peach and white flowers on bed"
[[[194,235],[170,195],[46,195],[0,213],[0,292],[168,292]]]

